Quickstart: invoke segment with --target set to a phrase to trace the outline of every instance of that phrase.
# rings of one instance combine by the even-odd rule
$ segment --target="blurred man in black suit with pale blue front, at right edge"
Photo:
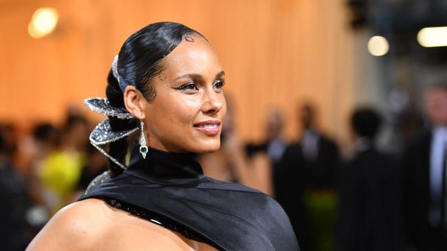
[[[429,88],[425,108],[430,130],[409,143],[402,158],[408,245],[447,250],[447,86]]]

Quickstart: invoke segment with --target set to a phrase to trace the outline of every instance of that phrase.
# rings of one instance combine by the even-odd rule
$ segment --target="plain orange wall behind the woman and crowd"
[[[60,20],[54,34],[34,39],[27,27],[40,7],[56,8]],[[243,139],[261,139],[271,106],[296,136],[305,100],[325,131],[346,136],[353,34],[344,0],[1,0],[0,13],[0,120],[61,121],[67,105],[105,96],[111,60],[131,33],[176,21],[217,50]]]

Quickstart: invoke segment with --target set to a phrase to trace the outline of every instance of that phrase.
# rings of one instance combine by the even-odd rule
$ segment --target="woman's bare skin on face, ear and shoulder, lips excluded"
[[[150,103],[133,86],[124,103],[144,121],[150,147],[169,152],[214,152],[220,146],[226,101],[221,89],[224,75],[212,47],[200,36],[182,41],[164,59],[160,76],[153,77],[156,97]],[[180,86],[186,88],[179,90]],[[215,134],[197,130],[197,123],[219,123]],[[215,250],[120,211],[102,200],[75,202],[56,213],[27,250]]]

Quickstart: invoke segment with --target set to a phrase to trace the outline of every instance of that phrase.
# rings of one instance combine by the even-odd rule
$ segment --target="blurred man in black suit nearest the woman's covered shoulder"
[[[275,198],[289,215],[301,250],[327,250],[333,246],[335,205],[329,202],[321,208],[318,203],[334,198],[339,152],[336,143],[316,129],[315,108],[305,104],[299,109],[303,135],[276,165]]]

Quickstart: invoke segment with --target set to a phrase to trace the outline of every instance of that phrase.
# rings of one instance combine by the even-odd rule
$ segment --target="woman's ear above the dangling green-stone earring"
[[[144,119],[147,102],[135,86],[127,86],[124,90],[124,107],[137,119]]]

